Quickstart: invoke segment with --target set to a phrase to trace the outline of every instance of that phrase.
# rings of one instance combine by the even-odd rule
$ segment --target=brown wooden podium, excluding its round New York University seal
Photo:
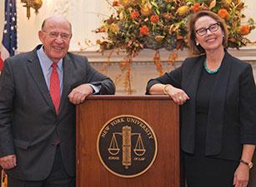
[[[103,126],[116,116],[126,115],[148,123],[158,147],[149,169],[129,178],[107,170],[98,154]],[[178,106],[168,96],[91,96],[77,106],[76,128],[77,187],[180,186]]]

